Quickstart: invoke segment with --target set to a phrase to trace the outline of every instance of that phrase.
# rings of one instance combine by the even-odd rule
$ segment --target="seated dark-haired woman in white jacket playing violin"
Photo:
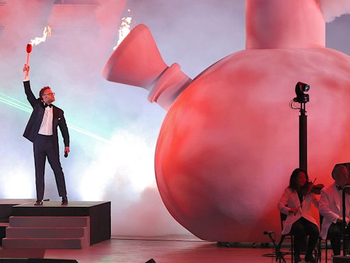
[[[306,248],[305,261],[316,262],[312,251],[319,238],[317,221],[311,214],[311,203],[317,207],[319,201],[315,193],[311,191],[308,174],[301,168],[293,171],[289,179],[289,186],[278,203],[278,209],[287,215],[282,234],[294,235],[294,259],[300,262],[301,243],[309,236]]]

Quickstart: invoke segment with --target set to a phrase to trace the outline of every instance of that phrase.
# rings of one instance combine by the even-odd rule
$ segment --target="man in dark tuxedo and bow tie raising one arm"
[[[29,83],[29,66],[23,68],[25,77],[23,84],[25,95],[33,107],[33,112],[25,128],[23,136],[33,142],[34,162],[36,167],[36,203],[42,205],[44,199],[44,171],[46,157],[55,174],[59,196],[62,197],[62,205],[68,205],[66,183],[61,163],[59,162],[59,148],[57,126],[61,130],[64,138],[65,156],[69,153],[69,134],[64,118],[64,112],[60,108],[51,104],[55,101],[55,93],[49,86],[42,88],[39,98],[33,95]]]

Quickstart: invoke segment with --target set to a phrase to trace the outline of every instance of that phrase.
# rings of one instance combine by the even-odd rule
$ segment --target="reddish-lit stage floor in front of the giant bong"
[[[271,248],[217,247],[215,242],[201,240],[145,240],[112,238],[84,249],[1,249],[0,258],[51,258],[77,260],[79,263],[144,263],[151,258],[157,263],[256,263],[275,262],[265,258]],[[290,256],[286,256],[290,262]]]

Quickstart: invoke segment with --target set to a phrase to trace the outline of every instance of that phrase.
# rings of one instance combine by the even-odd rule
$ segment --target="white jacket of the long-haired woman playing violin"
[[[316,207],[319,206],[319,201],[314,193],[310,193],[304,197],[304,201],[302,205],[300,205],[297,191],[293,191],[291,188],[286,188],[286,190],[284,190],[283,195],[277,205],[278,210],[287,215],[286,221],[284,221],[282,231],[283,235],[288,234],[291,231],[292,225],[295,223],[295,221],[299,220],[301,217],[304,217],[306,220],[319,227],[316,219],[311,214],[311,203],[314,203]],[[290,208],[297,208],[297,214],[289,213]]]

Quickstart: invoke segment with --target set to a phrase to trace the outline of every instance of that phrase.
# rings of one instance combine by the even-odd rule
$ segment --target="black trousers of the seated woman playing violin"
[[[293,224],[291,234],[294,236],[294,252],[298,257],[300,256],[302,242],[306,236],[309,236],[305,258],[306,260],[312,258],[312,251],[319,239],[319,228],[317,225],[301,217]]]

